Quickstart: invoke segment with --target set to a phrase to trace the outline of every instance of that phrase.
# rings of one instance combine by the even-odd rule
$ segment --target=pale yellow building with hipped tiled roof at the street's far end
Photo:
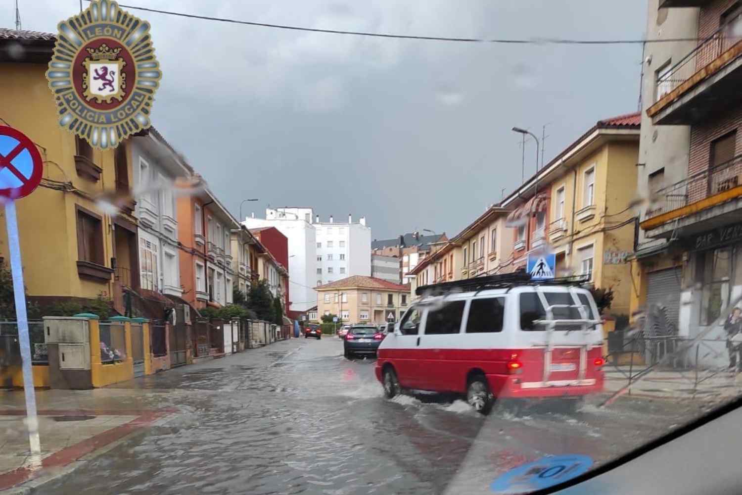
[[[344,324],[397,321],[410,304],[410,286],[362,275],[326,283],[315,290],[318,317],[338,315]]]

